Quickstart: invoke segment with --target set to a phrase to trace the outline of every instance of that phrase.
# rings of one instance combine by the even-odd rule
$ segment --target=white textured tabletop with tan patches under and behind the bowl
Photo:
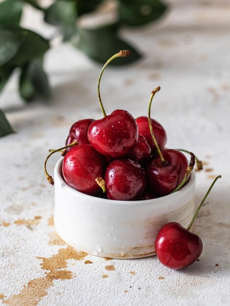
[[[73,122],[101,117],[101,65],[56,42],[46,56],[52,101],[25,105],[17,73],[0,96],[17,131],[0,139],[0,305],[229,305],[230,3],[170,2],[158,24],[122,32],[144,57],[106,70],[101,95],[107,113],[124,108],[136,117],[146,115],[150,92],[160,85],[152,116],[167,132],[167,147],[186,148],[205,161],[197,173],[197,203],[222,175],[195,222],[204,243],[200,261],[182,271],[167,269],[156,257],[106,261],[75,251],[55,234],[44,159],[48,149],[63,145]],[[40,24],[40,16],[31,14]],[[40,30],[47,36],[53,31]],[[49,160],[50,173],[58,158]]]

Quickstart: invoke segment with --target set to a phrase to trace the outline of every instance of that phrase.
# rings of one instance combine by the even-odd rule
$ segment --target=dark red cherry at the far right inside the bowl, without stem
[[[150,189],[159,196],[169,195],[183,181],[188,167],[187,158],[177,150],[162,150],[165,163],[157,155],[147,165],[147,181]]]

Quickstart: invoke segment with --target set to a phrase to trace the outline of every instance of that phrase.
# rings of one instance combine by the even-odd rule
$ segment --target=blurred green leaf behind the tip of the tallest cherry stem
[[[105,63],[111,56],[120,50],[130,50],[127,58],[117,58],[111,65],[125,65],[140,58],[133,46],[124,42],[117,36],[117,24],[111,24],[96,29],[79,29],[79,39],[75,44],[93,60]]]

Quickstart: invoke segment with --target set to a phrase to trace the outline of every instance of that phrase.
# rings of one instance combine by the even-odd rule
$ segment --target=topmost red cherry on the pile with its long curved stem
[[[120,51],[103,66],[97,84],[97,94],[104,118],[91,123],[88,130],[90,144],[99,153],[118,158],[127,155],[138,142],[138,125],[134,117],[126,110],[116,109],[106,115],[100,96],[101,76],[108,64],[116,57],[126,57],[130,51]]]

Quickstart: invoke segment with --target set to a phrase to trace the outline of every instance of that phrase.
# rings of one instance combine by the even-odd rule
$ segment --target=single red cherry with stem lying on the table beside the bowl
[[[203,250],[202,240],[190,232],[190,228],[210,190],[220,177],[221,175],[218,175],[214,179],[187,229],[177,222],[169,222],[159,231],[155,240],[155,250],[157,258],[166,267],[182,269],[200,257]]]

